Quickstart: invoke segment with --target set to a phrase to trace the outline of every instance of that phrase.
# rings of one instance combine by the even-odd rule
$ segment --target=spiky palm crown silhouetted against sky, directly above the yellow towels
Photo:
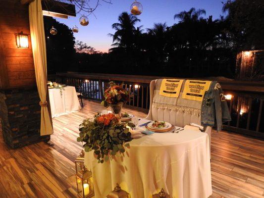
[[[196,10],[192,7],[189,11],[181,11],[180,13],[175,14],[174,19],[178,18],[180,19],[180,22],[198,21],[202,19],[202,17],[200,17],[202,14],[206,14],[205,9]]]

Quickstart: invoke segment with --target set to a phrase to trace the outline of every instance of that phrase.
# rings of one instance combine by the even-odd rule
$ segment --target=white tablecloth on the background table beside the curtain
[[[59,89],[49,89],[52,117],[68,114],[81,109],[75,87],[62,88],[62,96]]]

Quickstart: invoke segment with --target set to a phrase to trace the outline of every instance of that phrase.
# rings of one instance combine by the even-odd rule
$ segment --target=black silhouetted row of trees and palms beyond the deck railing
[[[107,54],[88,54],[86,60],[93,59],[93,67],[81,61],[80,71],[232,78],[236,51],[232,52],[230,24],[223,17],[213,20],[203,14],[205,10],[191,8],[175,14],[177,23],[172,26],[157,23],[143,32],[136,16],[122,13],[112,24],[113,48]]]

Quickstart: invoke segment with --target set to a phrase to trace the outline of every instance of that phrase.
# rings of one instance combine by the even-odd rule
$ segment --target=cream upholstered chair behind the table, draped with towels
[[[150,83],[150,110],[148,116],[145,119],[162,120],[165,122],[169,122],[178,127],[184,127],[185,125],[187,124],[189,125],[191,123],[201,125],[201,116],[169,110],[169,109],[156,108],[152,106],[156,81],[157,80],[153,80]],[[209,136],[210,148],[211,148],[211,130],[212,130],[211,127],[206,127],[205,129],[205,133],[207,133]]]

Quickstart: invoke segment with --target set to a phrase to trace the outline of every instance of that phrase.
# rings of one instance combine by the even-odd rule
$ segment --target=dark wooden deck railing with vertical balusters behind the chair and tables
[[[84,98],[96,101],[102,101],[107,83],[110,80],[116,83],[124,83],[124,88],[130,96],[130,100],[125,106],[148,112],[150,108],[150,82],[154,79],[170,77],[67,72],[58,73],[48,78],[51,81],[74,86]],[[227,96],[226,100],[232,121],[225,123],[224,129],[264,138],[264,83],[210,80],[217,80]]]

